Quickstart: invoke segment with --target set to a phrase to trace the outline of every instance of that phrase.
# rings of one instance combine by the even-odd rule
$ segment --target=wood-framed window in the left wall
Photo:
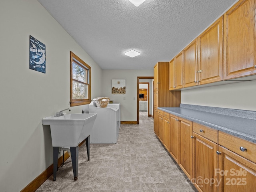
[[[91,67],[70,51],[70,106],[91,102]]]

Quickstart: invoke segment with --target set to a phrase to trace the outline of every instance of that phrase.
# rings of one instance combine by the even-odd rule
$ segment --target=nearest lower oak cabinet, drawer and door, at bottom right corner
[[[219,131],[219,192],[256,192],[256,144]]]

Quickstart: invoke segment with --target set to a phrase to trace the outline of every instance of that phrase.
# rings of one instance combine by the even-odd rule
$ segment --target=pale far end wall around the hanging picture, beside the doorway
[[[153,77],[154,69],[102,71],[102,97],[121,103],[121,121],[137,121],[137,77]],[[126,79],[126,94],[111,93],[112,79]]]

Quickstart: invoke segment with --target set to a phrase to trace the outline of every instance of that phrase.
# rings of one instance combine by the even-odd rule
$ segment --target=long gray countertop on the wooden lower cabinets
[[[158,109],[256,143],[256,120],[183,107],[158,107]]]

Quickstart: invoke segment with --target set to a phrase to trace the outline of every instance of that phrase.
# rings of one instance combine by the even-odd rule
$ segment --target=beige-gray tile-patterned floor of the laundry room
[[[122,125],[117,144],[90,144],[90,161],[84,143],[79,148],[78,180],[68,158],[56,181],[50,176],[36,192],[197,191],[157,139],[150,121]]]

